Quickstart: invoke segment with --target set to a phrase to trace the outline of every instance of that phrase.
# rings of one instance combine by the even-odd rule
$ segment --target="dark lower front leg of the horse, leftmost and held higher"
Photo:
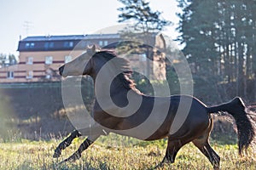
[[[81,133],[79,133],[78,130],[74,130],[73,133],[71,133],[66,139],[64,139],[61,142],[61,144],[57,146],[53,157],[55,158],[60,157],[61,150],[64,150],[65,148],[67,148],[67,146],[69,146],[72,143],[73,139],[78,138],[79,136],[81,136]]]

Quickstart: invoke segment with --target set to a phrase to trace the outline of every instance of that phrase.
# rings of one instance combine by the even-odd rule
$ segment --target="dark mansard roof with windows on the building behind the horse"
[[[19,42],[18,51],[60,51],[84,49],[88,45],[108,43],[120,40],[119,34],[90,34],[68,36],[33,36],[26,37]]]

